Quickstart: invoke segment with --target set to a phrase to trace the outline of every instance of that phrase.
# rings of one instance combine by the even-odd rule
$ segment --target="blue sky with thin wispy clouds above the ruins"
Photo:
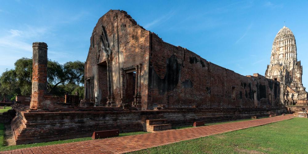
[[[5,1],[0,0],[0,74],[32,56],[33,42],[48,58],[85,61],[92,30],[108,10],[125,10],[165,42],[242,75],[265,74],[272,43],[284,25],[296,39],[308,86],[308,1]]]

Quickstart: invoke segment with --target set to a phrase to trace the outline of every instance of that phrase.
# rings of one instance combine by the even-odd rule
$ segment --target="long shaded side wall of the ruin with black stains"
[[[148,109],[167,107],[275,107],[279,83],[243,76],[151,35]],[[151,101],[150,101],[151,100]]]

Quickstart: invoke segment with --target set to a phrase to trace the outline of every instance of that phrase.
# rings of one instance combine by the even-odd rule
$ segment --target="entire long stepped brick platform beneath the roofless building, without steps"
[[[286,108],[273,109],[200,109],[173,111],[103,111],[109,107],[85,108],[83,111],[27,111],[27,107],[15,105],[17,116],[12,120],[13,139],[16,144],[30,144],[52,140],[90,137],[94,131],[119,129],[120,132],[143,131],[142,116],[163,115],[172,126],[248,119],[251,116],[268,116],[286,113]],[[101,110],[101,111],[99,111]]]

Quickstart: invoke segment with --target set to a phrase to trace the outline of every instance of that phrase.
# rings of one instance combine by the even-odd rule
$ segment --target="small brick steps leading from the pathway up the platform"
[[[171,124],[168,124],[168,120],[164,119],[164,115],[141,115],[141,123],[143,131],[155,132],[171,129]]]

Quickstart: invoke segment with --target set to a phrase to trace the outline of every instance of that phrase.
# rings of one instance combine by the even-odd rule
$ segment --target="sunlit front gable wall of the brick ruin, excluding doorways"
[[[106,35],[106,40],[102,39]],[[109,45],[110,53],[104,51],[102,43]],[[149,57],[149,31],[137,25],[125,11],[110,10],[99,18],[90,39],[90,48],[86,60],[85,79],[94,78],[94,93],[99,96],[101,104],[106,103],[105,83],[107,77],[106,69],[102,65],[111,62],[112,69],[112,92],[115,97],[115,106],[121,103],[121,98],[129,98],[124,102],[131,102],[133,99],[131,91],[135,89],[123,89],[126,86],[126,78],[122,77],[122,71],[136,69],[137,65],[142,65],[141,95],[142,102],[147,102],[147,79],[148,79],[148,57]],[[96,69],[98,67],[98,69]],[[98,82],[98,83],[97,83]],[[123,86],[124,85],[124,86]],[[128,87],[130,88],[130,87]],[[124,91],[124,92],[123,92]],[[129,91],[126,93],[126,91]],[[126,94],[128,94],[126,96]]]

